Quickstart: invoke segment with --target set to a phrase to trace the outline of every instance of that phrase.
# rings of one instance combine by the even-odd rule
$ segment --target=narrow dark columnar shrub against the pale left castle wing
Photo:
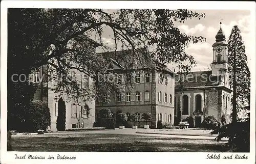
[[[62,98],[58,101],[58,117],[56,121],[58,131],[65,131],[66,129],[66,105]]]

